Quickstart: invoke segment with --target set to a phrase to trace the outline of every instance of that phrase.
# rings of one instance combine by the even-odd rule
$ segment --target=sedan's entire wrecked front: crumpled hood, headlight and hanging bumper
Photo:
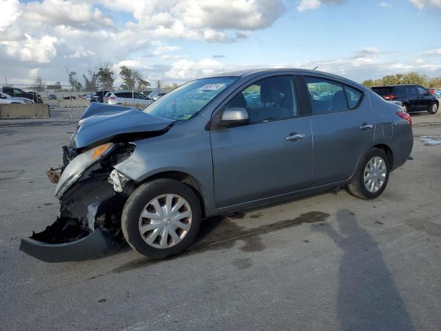
[[[135,183],[114,166],[132,154],[136,141],[165,134],[174,121],[139,110],[91,103],[67,146],[63,167],[50,169],[60,200],[57,221],[21,240],[20,250],[47,261],[95,259],[124,242],[121,212]]]

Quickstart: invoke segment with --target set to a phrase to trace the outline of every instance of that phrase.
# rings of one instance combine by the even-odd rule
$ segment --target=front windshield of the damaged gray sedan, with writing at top
[[[189,81],[154,101],[144,112],[163,119],[191,119],[236,79],[216,77]]]

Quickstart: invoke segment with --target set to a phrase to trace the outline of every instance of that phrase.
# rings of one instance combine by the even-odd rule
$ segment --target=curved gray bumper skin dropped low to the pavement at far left
[[[99,229],[69,243],[45,243],[32,237],[24,238],[20,250],[45,262],[85,261],[114,252],[116,244],[109,230]]]

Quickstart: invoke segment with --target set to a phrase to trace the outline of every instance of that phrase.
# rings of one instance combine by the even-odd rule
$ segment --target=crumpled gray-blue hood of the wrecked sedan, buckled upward
[[[85,148],[123,135],[167,130],[174,122],[134,108],[90,103],[79,121],[71,143],[74,143],[75,148]]]

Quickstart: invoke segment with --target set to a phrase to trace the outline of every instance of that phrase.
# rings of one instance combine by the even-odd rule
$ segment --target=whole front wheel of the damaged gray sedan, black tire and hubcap
[[[167,208],[169,198],[170,208]],[[179,208],[173,210],[173,207]],[[176,221],[178,217],[183,218]],[[121,228],[127,243],[136,252],[153,259],[178,254],[188,248],[200,225],[201,204],[196,194],[174,179],[156,179],[136,188],[121,215]]]

